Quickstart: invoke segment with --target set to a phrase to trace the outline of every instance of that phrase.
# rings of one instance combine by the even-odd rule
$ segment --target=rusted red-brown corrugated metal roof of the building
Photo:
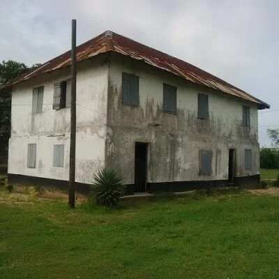
[[[259,109],[269,108],[269,105],[262,100],[220,80],[214,75],[206,73],[204,70],[201,70],[190,63],[163,52],[159,52],[158,50],[154,50],[151,47],[137,43],[135,40],[131,40],[130,38],[126,38],[112,31],[105,31],[96,38],[79,45],[77,47],[77,61],[89,59],[105,52],[117,52],[125,56],[130,56],[133,59],[142,60],[151,66],[167,70],[174,75],[183,77],[189,82],[207,86],[211,89],[216,89],[223,93],[257,103]],[[57,70],[66,66],[70,66],[70,51],[44,63],[40,68],[33,70],[31,73],[22,75],[22,77],[13,80],[13,82],[10,82],[7,85],[13,86],[14,84],[30,80],[43,73],[50,73],[52,70]]]

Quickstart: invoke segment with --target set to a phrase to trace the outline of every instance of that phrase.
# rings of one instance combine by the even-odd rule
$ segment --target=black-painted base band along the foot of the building
[[[234,181],[235,186],[243,187],[257,187],[259,186],[259,174],[253,176],[236,177]],[[24,184],[29,186],[45,186],[53,187],[61,190],[68,190],[68,181],[57,179],[45,179],[36,176],[25,176],[20,174],[8,174],[8,183]],[[147,189],[150,193],[163,192],[184,192],[187,190],[197,190],[206,188],[222,188],[228,184],[227,180],[214,181],[174,181],[174,182],[160,182],[147,183]],[[124,186],[124,195],[134,194],[134,185],[128,184]],[[76,190],[79,193],[88,195],[90,192],[89,184],[76,183]]]

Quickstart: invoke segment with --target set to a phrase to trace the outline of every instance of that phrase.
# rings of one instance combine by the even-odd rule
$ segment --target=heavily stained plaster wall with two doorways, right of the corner
[[[111,54],[108,88],[106,165],[134,183],[135,142],[148,142],[148,182],[228,179],[229,149],[236,149],[236,176],[259,174],[257,106],[219,91],[190,84],[163,70]],[[121,75],[140,77],[140,106],[122,105]],[[162,111],[163,83],[177,87],[177,114]],[[197,119],[197,94],[209,95],[209,120]],[[250,106],[251,128],[242,124]],[[252,149],[252,169],[244,168]],[[199,151],[213,151],[211,176],[199,176]],[[218,156],[216,155],[218,154]]]

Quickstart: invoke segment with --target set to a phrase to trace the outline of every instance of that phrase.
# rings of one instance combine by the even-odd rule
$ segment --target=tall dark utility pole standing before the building
[[[69,206],[75,207],[75,133],[77,123],[77,20],[72,20],[72,66],[71,66],[71,101],[70,101],[70,169],[69,169]]]

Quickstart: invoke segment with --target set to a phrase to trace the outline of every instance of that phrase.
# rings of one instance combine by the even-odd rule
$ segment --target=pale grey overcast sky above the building
[[[112,30],[217,75],[271,105],[259,111],[259,142],[266,126],[279,128],[278,0],[1,0],[0,60],[31,66]],[[277,110],[277,111],[276,111]]]

